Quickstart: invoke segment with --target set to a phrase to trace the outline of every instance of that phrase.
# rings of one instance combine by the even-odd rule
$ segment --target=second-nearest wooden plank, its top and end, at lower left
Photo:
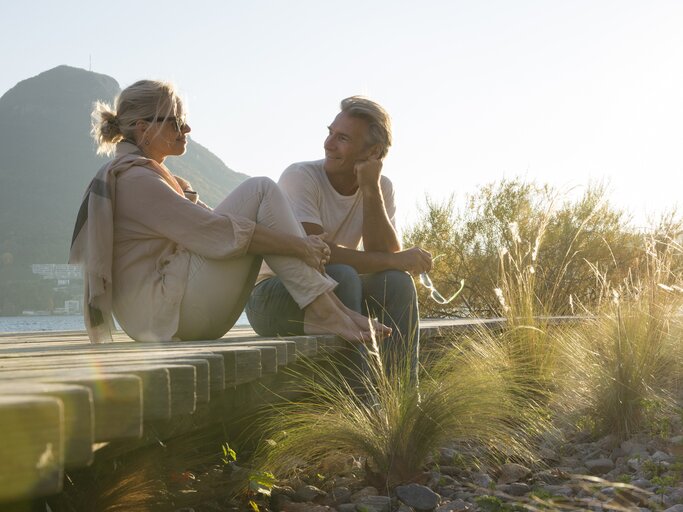
[[[0,395],[37,395],[61,400],[64,409],[64,464],[67,468],[77,468],[92,463],[95,436],[90,389],[70,384],[15,381],[0,382]]]

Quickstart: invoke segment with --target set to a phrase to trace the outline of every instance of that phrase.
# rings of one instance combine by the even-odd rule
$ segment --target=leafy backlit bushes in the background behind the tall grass
[[[620,282],[638,265],[641,236],[628,226],[629,220],[609,205],[600,185],[588,187],[573,201],[562,200],[549,186],[518,179],[482,187],[461,208],[453,198],[443,203],[427,198],[404,243],[438,256],[430,276],[444,295],[457,290],[461,279],[465,289],[459,302],[446,306],[419,290],[422,315],[504,316],[495,290],[501,288],[501,252],[513,248],[516,256],[542,262],[533,267],[534,292],[545,312],[565,315],[574,314],[579,305],[590,307],[599,299],[594,268],[608,281]],[[669,220],[669,229],[675,229]]]

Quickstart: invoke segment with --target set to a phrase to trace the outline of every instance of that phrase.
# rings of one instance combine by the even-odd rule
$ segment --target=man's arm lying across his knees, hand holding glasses
[[[322,235],[323,228],[318,224],[302,222],[307,235]],[[356,251],[327,242],[330,246],[330,264],[342,263],[355,268],[359,274],[370,274],[383,270],[403,270],[411,274],[427,272],[432,268],[432,256],[419,247],[405,251],[378,252]]]

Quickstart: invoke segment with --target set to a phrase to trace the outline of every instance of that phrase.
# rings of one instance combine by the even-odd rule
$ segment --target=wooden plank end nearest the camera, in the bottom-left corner
[[[58,398],[0,395],[0,501],[61,491],[63,421]]]

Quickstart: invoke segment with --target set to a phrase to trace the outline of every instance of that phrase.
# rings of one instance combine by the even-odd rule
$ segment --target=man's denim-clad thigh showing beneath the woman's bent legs
[[[304,333],[304,312],[278,277],[257,284],[245,308],[259,336],[298,336]]]

